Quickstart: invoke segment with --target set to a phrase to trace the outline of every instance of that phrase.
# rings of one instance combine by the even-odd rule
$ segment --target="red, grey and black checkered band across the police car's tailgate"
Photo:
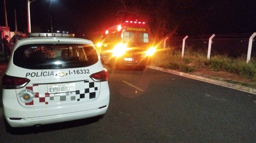
[[[44,87],[41,87],[44,86]],[[47,93],[47,85],[33,85],[26,87],[26,89],[34,91],[35,97],[29,103],[23,103],[24,105],[35,105],[35,106],[45,106],[47,104],[64,104],[78,101],[86,101],[96,98],[99,94],[98,89],[99,83],[93,81],[81,81],[76,82],[76,90],[73,92],[66,93]],[[42,90],[44,89],[44,91]],[[46,90],[46,91],[45,91]]]

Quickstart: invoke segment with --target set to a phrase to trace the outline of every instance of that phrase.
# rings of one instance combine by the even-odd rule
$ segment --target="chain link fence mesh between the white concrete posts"
[[[230,57],[247,57],[249,39],[252,34],[225,34],[216,35],[212,39],[210,56],[224,55]],[[167,41],[167,46],[172,50],[182,51],[185,36],[174,36]],[[207,56],[209,38],[211,35],[188,36],[185,39],[184,56],[187,53],[199,52]],[[256,59],[256,38],[254,37],[251,49],[251,58]]]

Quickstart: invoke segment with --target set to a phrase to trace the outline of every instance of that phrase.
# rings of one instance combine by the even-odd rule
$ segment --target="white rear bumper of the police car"
[[[83,101],[75,104],[23,107],[18,103],[15,95],[12,96],[12,94],[8,93],[8,90],[5,90],[3,93],[3,96],[6,96],[3,98],[4,118],[12,127],[26,127],[103,115],[108,109],[110,92],[108,88],[101,88],[100,93],[97,98],[91,101]],[[16,100],[14,98],[16,98]]]

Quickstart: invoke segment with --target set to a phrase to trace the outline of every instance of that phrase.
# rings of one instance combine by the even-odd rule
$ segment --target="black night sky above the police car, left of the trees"
[[[5,26],[3,0],[0,6],[0,25]],[[10,30],[15,31],[16,9],[17,30],[27,32],[26,0],[6,0],[6,9]],[[113,11],[108,9],[111,7],[105,0],[35,0],[30,3],[31,28],[39,27],[43,32],[51,32],[52,19],[53,31],[89,35],[109,26],[103,26],[103,23],[110,22],[108,18],[114,15]]]

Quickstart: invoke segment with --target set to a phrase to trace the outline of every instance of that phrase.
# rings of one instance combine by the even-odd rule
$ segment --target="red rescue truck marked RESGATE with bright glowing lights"
[[[137,20],[108,28],[102,39],[101,61],[112,69],[129,66],[144,70],[156,50],[149,26]]]

